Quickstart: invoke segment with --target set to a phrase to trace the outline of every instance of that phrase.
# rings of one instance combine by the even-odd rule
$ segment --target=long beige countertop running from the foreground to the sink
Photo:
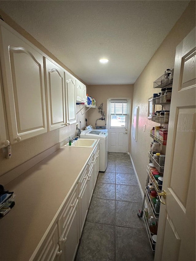
[[[62,147],[6,185],[15,206],[0,218],[0,260],[28,261],[94,148]]]

